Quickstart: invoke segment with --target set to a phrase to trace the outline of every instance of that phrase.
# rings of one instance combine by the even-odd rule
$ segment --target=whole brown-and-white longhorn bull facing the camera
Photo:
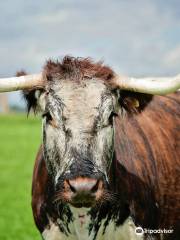
[[[45,240],[180,238],[179,88],[179,75],[130,78],[72,57],[0,80],[42,112],[32,209]]]

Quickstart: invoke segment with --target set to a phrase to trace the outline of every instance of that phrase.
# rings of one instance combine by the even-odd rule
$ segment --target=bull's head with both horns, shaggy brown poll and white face
[[[42,112],[43,154],[57,200],[76,207],[108,196],[114,117],[128,104],[138,108],[136,93],[163,95],[179,88],[180,76],[123,77],[101,63],[70,57],[49,61],[41,74],[0,79],[0,92],[24,90],[28,109]]]

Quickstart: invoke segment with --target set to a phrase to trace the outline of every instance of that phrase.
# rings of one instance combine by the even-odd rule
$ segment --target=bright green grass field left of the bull
[[[41,122],[0,115],[0,240],[41,239],[31,211],[31,178]]]

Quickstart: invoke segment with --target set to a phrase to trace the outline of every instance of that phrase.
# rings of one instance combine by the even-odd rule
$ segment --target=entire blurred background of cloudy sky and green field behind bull
[[[180,73],[179,0],[2,0],[0,9],[0,77],[66,54],[131,76]],[[40,141],[21,94],[0,94],[0,239],[40,239],[30,208]]]

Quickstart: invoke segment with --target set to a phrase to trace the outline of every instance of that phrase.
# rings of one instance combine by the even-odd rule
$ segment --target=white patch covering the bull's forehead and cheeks
[[[46,97],[46,110],[53,124],[43,123],[45,158],[53,165],[53,175],[58,181],[62,172],[68,171],[76,156],[86,155],[95,168],[107,171],[112,159],[114,129],[109,122],[117,110],[117,99],[103,81],[89,79],[81,83],[61,80],[51,86]]]

